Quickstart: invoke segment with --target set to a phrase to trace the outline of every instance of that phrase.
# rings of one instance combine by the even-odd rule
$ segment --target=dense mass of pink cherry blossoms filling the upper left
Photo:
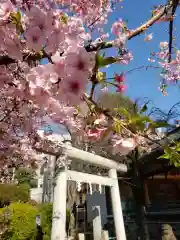
[[[76,113],[95,66],[95,53],[88,53],[84,46],[92,40],[94,27],[101,40],[107,37],[102,25],[107,23],[111,4],[0,1],[0,54],[5,59],[0,64],[1,152],[16,149],[31,154],[28,146],[47,118],[91,139],[92,128],[88,130],[82,111]],[[47,64],[40,64],[41,56],[48,58]],[[130,58],[124,54],[122,63]]]

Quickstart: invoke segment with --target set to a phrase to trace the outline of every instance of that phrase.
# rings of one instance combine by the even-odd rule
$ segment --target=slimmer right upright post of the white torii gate
[[[111,169],[109,171],[109,177],[113,178],[114,180],[114,185],[110,187],[110,189],[111,189],[111,200],[112,200],[114,224],[115,224],[115,231],[116,231],[116,240],[126,240],[119,184],[118,184],[117,172],[115,169]]]

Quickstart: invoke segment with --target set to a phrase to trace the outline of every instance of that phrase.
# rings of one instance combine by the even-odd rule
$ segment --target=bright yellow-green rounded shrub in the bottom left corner
[[[3,240],[34,240],[38,209],[28,203],[11,203],[0,210],[0,227]]]

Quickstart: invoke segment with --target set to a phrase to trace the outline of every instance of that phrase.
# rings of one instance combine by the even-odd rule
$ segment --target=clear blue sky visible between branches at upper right
[[[111,15],[109,24],[119,17],[128,20],[128,28],[135,29],[151,16],[151,9],[154,5],[164,4],[163,0],[124,0],[123,9],[117,8]],[[176,28],[180,29],[180,11],[177,12]],[[153,33],[152,42],[144,42],[144,34],[128,41],[128,49],[132,50],[134,60],[126,67],[114,65],[107,69],[108,76],[113,76],[114,71],[130,70],[142,65],[151,65],[147,60],[151,52],[158,51],[160,41],[168,41],[168,23],[155,24],[147,33]],[[176,32],[176,36],[178,31]],[[178,39],[178,37],[177,37]],[[108,55],[114,54],[113,49],[108,50]],[[160,71],[157,69],[134,71],[127,75],[128,90],[125,95],[132,99],[147,98],[152,100],[154,106],[168,111],[173,104],[180,101],[180,89],[177,86],[168,87],[168,96],[162,96],[158,90],[160,83]]]

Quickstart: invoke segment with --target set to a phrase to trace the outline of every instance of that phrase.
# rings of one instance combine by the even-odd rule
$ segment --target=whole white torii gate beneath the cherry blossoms
[[[102,177],[93,174],[71,171],[66,167],[60,169],[56,176],[56,185],[54,187],[51,240],[66,239],[66,197],[68,180],[85,183],[91,182],[110,187],[116,240],[126,240],[117,171],[127,172],[127,166],[93,153],[76,149],[69,145],[65,145],[64,148],[68,159],[109,169],[109,176]]]

